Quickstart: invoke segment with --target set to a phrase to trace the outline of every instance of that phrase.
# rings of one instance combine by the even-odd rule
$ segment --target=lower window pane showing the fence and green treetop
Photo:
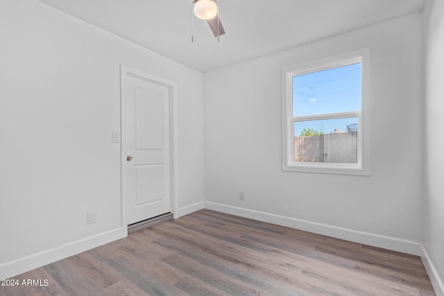
[[[294,123],[295,162],[357,163],[357,117]]]

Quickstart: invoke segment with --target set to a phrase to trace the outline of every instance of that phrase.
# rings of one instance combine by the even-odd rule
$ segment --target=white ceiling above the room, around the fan
[[[39,0],[196,69],[209,71],[422,10],[424,0],[220,0],[220,42],[191,0]]]

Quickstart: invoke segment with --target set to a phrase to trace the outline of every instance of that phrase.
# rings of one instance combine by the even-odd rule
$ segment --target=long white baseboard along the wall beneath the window
[[[404,252],[417,256],[422,255],[422,249],[420,243],[407,241],[401,238],[382,236],[379,234],[371,234],[368,232],[358,232],[353,229],[347,229],[332,225],[315,223],[307,220],[300,220],[286,216],[269,214],[262,211],[253,211],[250,209],[244,209],[240,207],[232,207],[226,204],[218,204],[215,202],[204,202],[204,203],[205,203],[205,209],[212,209],[214,211],[221,211],[226,214],[233,214],[245,218],[251,218],[268,223],[305,230],[307,232],[323,234],[325,236],[340,238],[345,241],[352,241],[355,243],[372,245],[374,247],[382,247],[384,249]]]

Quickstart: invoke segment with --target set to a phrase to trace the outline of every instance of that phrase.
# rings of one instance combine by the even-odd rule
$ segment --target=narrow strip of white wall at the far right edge
[[[427,1],[425,33],[425,175],[422,244],[429,256],[429,275],[444,295],[444,2]],[[433,272],[433,275],[431,274]],[[434,282],[435,281],[435,282]],[[439,295],[439,294],[438,294]]]

